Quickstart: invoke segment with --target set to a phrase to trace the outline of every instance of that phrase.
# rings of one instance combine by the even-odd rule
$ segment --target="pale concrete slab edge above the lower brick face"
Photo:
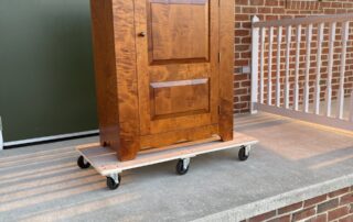
[[[339,177],[324,182],[315,184],[289,192],[280,193],[270,198],[239,206],[226,211],[210,214],[194,220],[200,221],[242,221],[258,214],[263,214],[286,206],[311,199],[328,192],[353,186],[353,174]]]

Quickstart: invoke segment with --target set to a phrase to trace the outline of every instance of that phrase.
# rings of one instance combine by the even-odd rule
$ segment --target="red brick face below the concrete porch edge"
[[[353,186],[277,209],[244,222],[352,222]]]

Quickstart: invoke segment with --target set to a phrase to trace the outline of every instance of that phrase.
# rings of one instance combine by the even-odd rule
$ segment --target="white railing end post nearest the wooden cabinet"
[[[252,22],[253,24],[258,22],[259,19],[254,16]],[[256,103],[258,101],[258,40],[259,40],[259,29],[252,29],[252,113],[256,113]]]

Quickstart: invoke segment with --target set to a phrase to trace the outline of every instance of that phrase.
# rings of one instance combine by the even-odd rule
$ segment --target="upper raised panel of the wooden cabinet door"
[[[208,59],[208,4],[150,2],[151,63]]]

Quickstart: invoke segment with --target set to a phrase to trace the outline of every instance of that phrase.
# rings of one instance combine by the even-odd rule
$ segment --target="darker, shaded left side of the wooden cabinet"
[[[119,147],[118,81],[111,0],[90,0],[100,143]]]

